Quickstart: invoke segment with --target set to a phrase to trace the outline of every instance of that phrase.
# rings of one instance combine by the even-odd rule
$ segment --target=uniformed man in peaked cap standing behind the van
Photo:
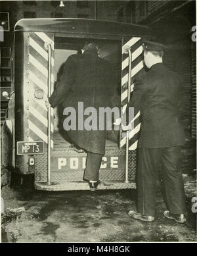
[[[129,102],[135,115],[141,111],[142,119],[138,142],[137,212],[129,211],[129,216],[154,220],[158,165],[161,163],[167,206],[164,216],[184,223],[185,191],[179,169],[181,145],[185,143],[179,115],[183,86],[179,75],[162,63],[164,49],[160,43],[144,42],[144,63],[150,70],[137,78]]]

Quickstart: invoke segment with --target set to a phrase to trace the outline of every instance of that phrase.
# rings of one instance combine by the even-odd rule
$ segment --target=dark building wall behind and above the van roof
[[[32,2],[32,5],[28,2]],[[97,4],[97,18],[100,20],[113,20],[151,26],[160,41],[175,47],[175,54],[169,54],[169,57],[165,59],[169,66],[173,63],[171,68],[181,72],[181,75],[184,76],[183,80],[186,81],[185,112],[183,117],[185,118],[186,132],[190,133],[193,138],[196,138],[196,47],[194,43],[190,43],[189,26],[194,26],[192,24],[193,21],[187,24],[190,19],[188,15],[192,16],[194,14],[181,13],[179,10],[171,13],[174,8],[179,9],[185,3],[186,1],[177,0],[88,1],[87,7],[79,7],[77,1],[64,1],[64,8],[56,8],[58,1],[1,1],[0,11],[10,13],[11,25],[11,32],[5,32],[5,41],[1,43],[1,47],[11,47],[14,24],[17,20],[25,18],[26,15],[32,15],[36,18],[51,18],[53,13],[56,12],[55,16],[59,17],[77,18],[80,16],[81,18],[95,18],[95,4]],[[180,16],[182,17],[181,21],[179,21]],[[187,53],[185,53],[185,59],[179,54],[182,49],[177,50],[181,44],[190,45],[188,46]],[[185,65],[177,68],[181,61]]]

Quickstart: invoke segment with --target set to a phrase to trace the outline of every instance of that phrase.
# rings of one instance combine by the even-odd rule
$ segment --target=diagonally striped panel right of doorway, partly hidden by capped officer
[[[136,76],[139,76],[144,70],[144,63],[142,57],[142,38],[133,37],[130,39],[125,39],[122,47],[122,63],[121,63],[121,106],[125,111],[127,107],[128,100],[128,79],[129,79],[129,55],[123,52],[124,47],[128,45],[131,49],[131,90],[133,91],[133,86]],[[123,112],[124,112],[123,111]],[[137,135],[139,134],[141,122],[140,113],[131,120],[130,122],[133,129],[129,132],[129,150],[135,150],[137,148]],[[125,132],[121,131],[120,134],[120,147],[123,147],[126,143]]]

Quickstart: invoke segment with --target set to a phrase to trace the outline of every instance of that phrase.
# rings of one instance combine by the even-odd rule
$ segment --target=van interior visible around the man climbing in
[[[94,39],[95,41],[95,39]],[[64,38],[55,37],[55,84],[62,74],[62,67],[70,55],[82,54],[81,48],[85,42],[85,38]],[[110,62],[116,70],[118,81],[120,81],[121,91],[121,41],[97,39],[99,45],[99,56]],[[120,91],[118,95],[120,96]],[[120,97],[121,103],[121,97]],[[63,128],[63,109],[61,105],[54,109],[54,149],[60,150],[62,147],[68,147],[73,150],[72,141],[68,137],[67,132]],[[109,137],[110,138],[110,137]],[[119,141],[106,140],[106,148],[118,148]]]

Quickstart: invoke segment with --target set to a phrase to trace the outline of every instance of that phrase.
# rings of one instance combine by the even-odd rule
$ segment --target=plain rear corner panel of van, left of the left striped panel
[[[30,90],[28,84],[29,33],[15,33],[15,146],[17,141],[28,141],[28,117]],[[28,155],[17,155],[16,172],[29,174],[34,170],[29,168]]]

